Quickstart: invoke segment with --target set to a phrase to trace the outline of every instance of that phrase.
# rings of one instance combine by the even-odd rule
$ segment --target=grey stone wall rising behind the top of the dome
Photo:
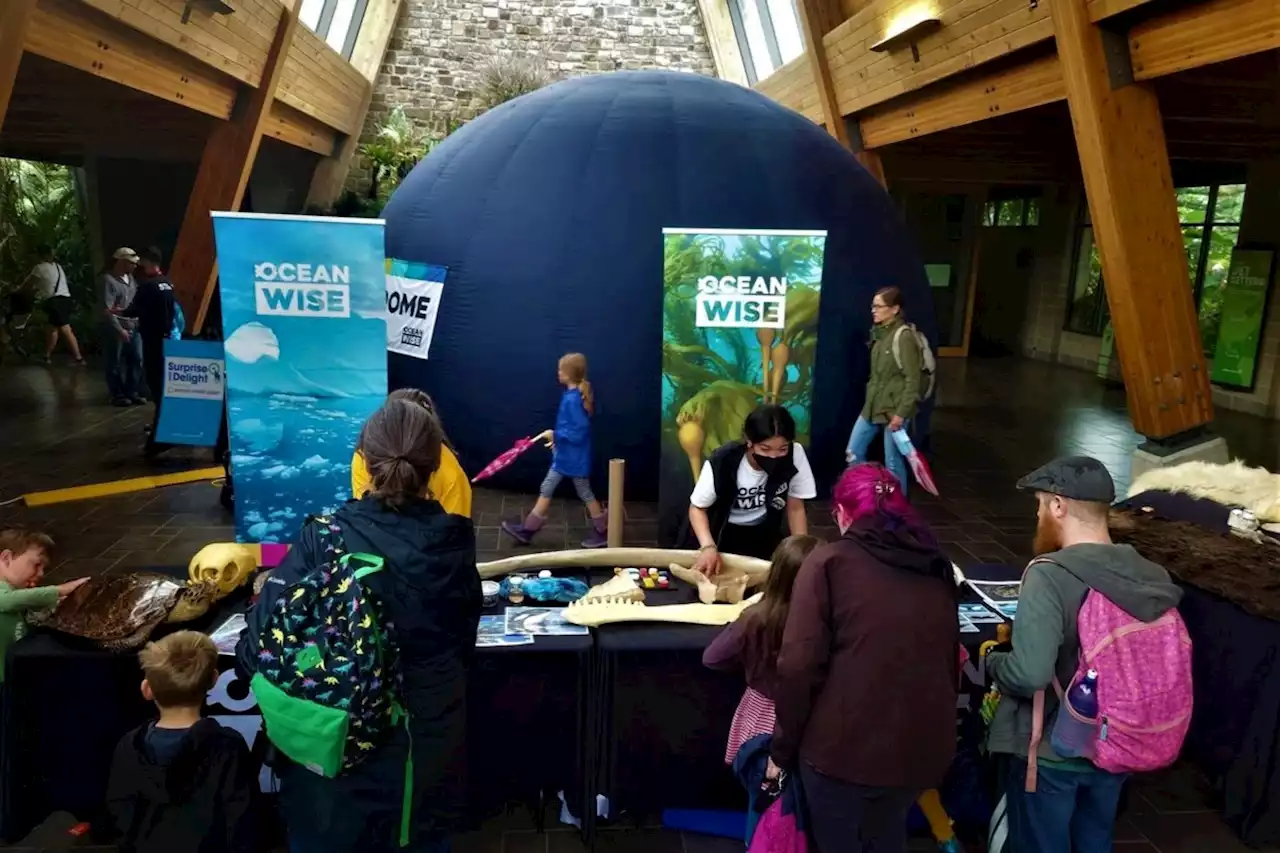
[[[362,137],[397,106],[425,131],[481,111],[480,73],[497,56],[539,59],[557,78],[663,68],[714,74],[698,0],[406,0]],[[356,158],[347,186],[364,190]]]

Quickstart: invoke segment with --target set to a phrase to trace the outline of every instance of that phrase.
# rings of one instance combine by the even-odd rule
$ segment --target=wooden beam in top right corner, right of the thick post
[[[1129,31],[1134,79],[1280,49],[1276,0],[1206,0],[1156,15]]]

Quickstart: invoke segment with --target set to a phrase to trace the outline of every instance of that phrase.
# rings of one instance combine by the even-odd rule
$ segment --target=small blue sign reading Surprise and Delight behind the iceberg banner
[[[223,423],[225,365],[220,341],[164,342],[164,403],[156,441],[212,447]]]

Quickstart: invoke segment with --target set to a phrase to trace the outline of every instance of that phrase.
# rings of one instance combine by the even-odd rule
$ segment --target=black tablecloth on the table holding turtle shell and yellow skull
[[[244,596],[233,597],[209,616],[165,626],[156,637],[178,628],[211,631],[244,607]],[[498,606],[485,612],[502,611]],[[512,799],[536,802],[543,790],[567,789],[581,797],[590,713],[584,680],[590,675],[591,646],[589,635],[539,637],[527,646],[476,649],[467,739],[472,820]],[[219,661],[230,707],[206,706],[206,713],[224,725],[233,722],[228,717],[256,717],[256,706],[246,699],[247,685],[234,680],[232,658]],[[36,631],[10,648],[5,675],[0,836],[20,838],[52,811],[92,820],[116,742],[155,717],[155,708],[142,699],[137,656]],[[571,802],[576,808],[579,800]]]

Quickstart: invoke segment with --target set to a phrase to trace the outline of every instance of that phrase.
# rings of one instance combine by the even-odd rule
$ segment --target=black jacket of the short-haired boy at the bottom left
[[[201,720],[163,765],[146,743],[151,725],[124,735],[111,761],[106,809],[120,853],[256,850],[257,765],[244,739]]]

